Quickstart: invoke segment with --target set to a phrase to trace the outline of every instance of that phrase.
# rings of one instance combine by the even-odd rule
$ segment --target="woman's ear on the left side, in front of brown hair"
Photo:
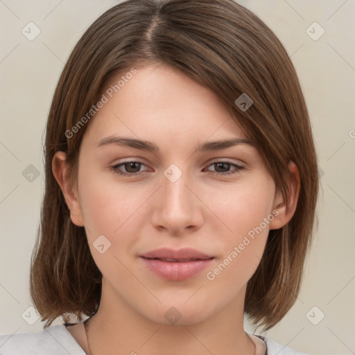
[[[60,189],[62,190],[65,202],[70,210],[70,218],[74,225],[78,227],[84,226],[84,218],[81,213],[80,205],[78,202],[78,193],[76,189],[69,189],[69,182],[67,180],[67,155],[64,152],[58,151],[55,153],[52,160],[52,171],[57,180]]]

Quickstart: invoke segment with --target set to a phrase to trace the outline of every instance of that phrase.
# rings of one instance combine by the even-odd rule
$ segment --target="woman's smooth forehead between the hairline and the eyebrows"
[[[134,75],[121,72],[107,83],[106,103],[90,121],[83,140],[97,144],[118,134],[180,146],[209,137],[245,138],[211,89],[166,64],[136,70]]]

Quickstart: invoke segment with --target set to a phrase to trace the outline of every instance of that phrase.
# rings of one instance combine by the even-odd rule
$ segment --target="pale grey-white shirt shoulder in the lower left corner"
[[[36,334],[0,335],[1,355],[85,355],[64,324]]]

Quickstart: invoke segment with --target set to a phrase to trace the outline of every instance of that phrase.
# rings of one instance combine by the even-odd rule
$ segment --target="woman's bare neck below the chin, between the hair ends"
[[[141,315],[104,287],[97,313],[89,320],[87,340],[97,354],[254,355],[243,328],[245,289],[225,309],[200,322],[163,324]]]

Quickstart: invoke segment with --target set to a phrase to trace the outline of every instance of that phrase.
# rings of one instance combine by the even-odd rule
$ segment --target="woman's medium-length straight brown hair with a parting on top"
[[[31,260],[33,304],[44,327],[60,316],[67,322],[96,313],[102,275],[84,227],[71,222],[52,159],[59,150],[67,153],[69,180],[77,184],[80,142],[90,123],[72,137],[66,132],[98,102],[113,76],[154,63],[178,68],[218,95],[261,153],[286,202],[288,162],[300,171],[295,214],[284,227],[270,230],[247,286],[245,313],[269,329],[300,291],[318,196],[317,157],[302,89],[284,46],[259,17],[232,0],[124,1],[94,21],[76,44],[46,125],[45,191]],[[243,93],[253,101],[245,111],[234,103]]]

